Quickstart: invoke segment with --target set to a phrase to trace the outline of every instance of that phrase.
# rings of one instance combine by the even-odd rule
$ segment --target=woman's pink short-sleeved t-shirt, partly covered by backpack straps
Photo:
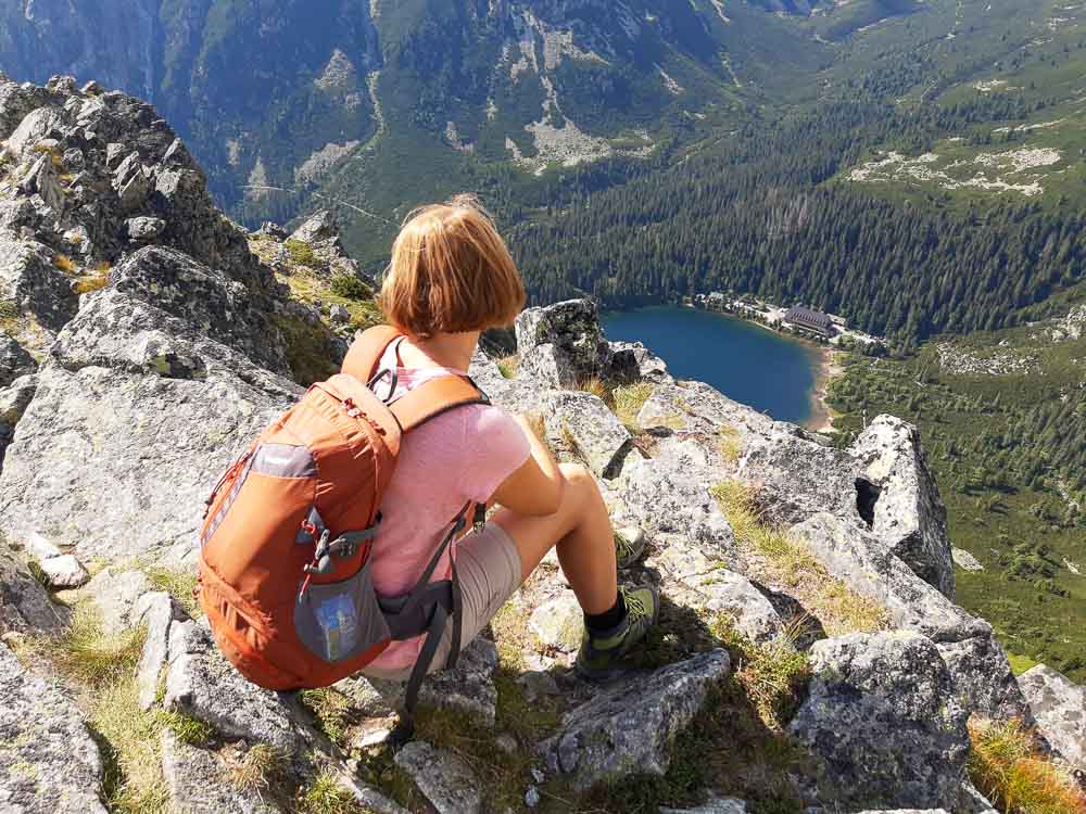
[[[457,373],[445,368],[396,372],[397,396],[430,379]],[[384,395],[380,387],[378,394]],[[415,587],[464,504],[490,500],[530,454],[520,424],[501,408],[485,405],[450,410],[405,435],[371,555],[377,593],[396,596]],[[455,557],[456,543],[450,548]],[[449,558],[449,552],[442,557],[433,581],[450,577]],[[409,667],[421,646],[421,636],[393,641],[372,665],[382,671]]]

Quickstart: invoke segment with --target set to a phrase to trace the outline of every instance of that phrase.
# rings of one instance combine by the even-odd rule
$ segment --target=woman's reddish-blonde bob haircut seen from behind
[[[525,284],[490,214],[457,195],[407,216],[378,304],[409,336],[484,331],[513,325]]]

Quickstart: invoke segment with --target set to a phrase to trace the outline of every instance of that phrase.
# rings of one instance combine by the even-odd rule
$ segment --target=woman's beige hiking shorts
[[[456,544],[456,575],[460,580],[463,607],[460,647],[467,647],[506,600],[520,587],[520,552],[513,537],[497,523],[490,522],[478,534],[471,533]],[[445,625],[430,672],[445,666],[453,641],[453,623]],[[411,667],[381,670],[368,666],[363,675],[392,682],[405,682]]]

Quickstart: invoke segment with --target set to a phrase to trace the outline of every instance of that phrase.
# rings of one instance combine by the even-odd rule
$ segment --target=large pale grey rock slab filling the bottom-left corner
[[[78,708],[0,644],[0,810],[105,814],[102,758]]]

